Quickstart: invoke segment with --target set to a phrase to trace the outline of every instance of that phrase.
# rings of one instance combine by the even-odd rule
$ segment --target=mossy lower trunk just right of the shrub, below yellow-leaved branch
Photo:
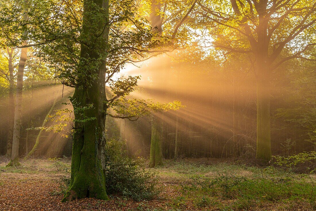
[[[161,122],[158,119],[153,118],[151,123],[149,168],[154,168],[162,165],[161,131]]]

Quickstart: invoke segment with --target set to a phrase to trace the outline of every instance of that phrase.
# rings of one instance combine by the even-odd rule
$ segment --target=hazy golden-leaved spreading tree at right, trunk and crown
[[[309,39],[314,34],[316,3],[312,0],[230,0],[198,4],[201,10],[197,11],[197,20],[210,26],[212,47],[249,54],[257,80],[256,157],[268,161],[271,157],[271,77],[285,61],[314,59],[308,51],[316,45]]]

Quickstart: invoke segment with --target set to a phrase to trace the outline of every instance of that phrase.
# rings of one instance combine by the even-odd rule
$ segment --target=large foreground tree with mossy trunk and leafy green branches
[[[65,29],[68,33],[65,34],[66,38],[55,40],[55,48],[43,48],[48,54],[46,59],[52,59],[60,67],[59,78],[63,83],[75,87],[74,95],[70,98],[75,116],[71,182],[63,201],[83,197],[108,199],[104,181],[107,110],[116,105],[120,97],[132,92],[139,79],[128,77],[113,80],[112,76],[132,58],[137,59],[144,53],[161,52],[146,50],[152,47],[153,37],[142,20],[135,19],[137,7],[133,1],[112,1],[110,4],[102,0],[84,1],[82,23],[76,17],[70,17],[60,24],[62,28],[64,25],[75,25],[80,29],[80,34]],[[80,14],[80,9],[78,12]],[[122,24],[127,28],[122,29]],[[130,28],[131,25],[136,27]],[[68,45],[64,46],[67,40]],[[60,47],[57,53],[54,51],[56,46]],[[55,59],[61,49],[64,56]],[[113,93],[110,97],[105,94],[106,84]]]

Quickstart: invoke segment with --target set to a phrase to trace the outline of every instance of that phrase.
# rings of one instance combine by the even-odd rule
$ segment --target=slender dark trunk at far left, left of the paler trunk
[[[13,125],[14,125],[14,76],[13,76],[13,64],[12,64],[12,53],[13,49],[8,49],[9,55],[9,130],[8,130],[8,138],[7,138],[7,157],[11,157],[12,152],[12,140],[13,140]]]

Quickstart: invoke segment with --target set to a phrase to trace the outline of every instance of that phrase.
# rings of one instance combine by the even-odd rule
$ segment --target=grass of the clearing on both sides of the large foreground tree
[[[131,202],[121,196],[112,196],[112,201],[118,209],[148,211],[316,209],[315,175],[231,161],[214,160],[207,164],[202,161],[166,160],[162,167],[147,169],[160,177],[161,194],[154,201]],[[31,159],[21,167],[5,167],[5,162],[0,163],[0,176],[14,175],[16,182],[24,181],[26,174],[55,179],[59,189],[52,195],[62,195],[67,187],[64,178],[69,173],[68,159]],[[5,185],[0,182],[0,186]],[[103,206],[103,202],[91,206]]]

